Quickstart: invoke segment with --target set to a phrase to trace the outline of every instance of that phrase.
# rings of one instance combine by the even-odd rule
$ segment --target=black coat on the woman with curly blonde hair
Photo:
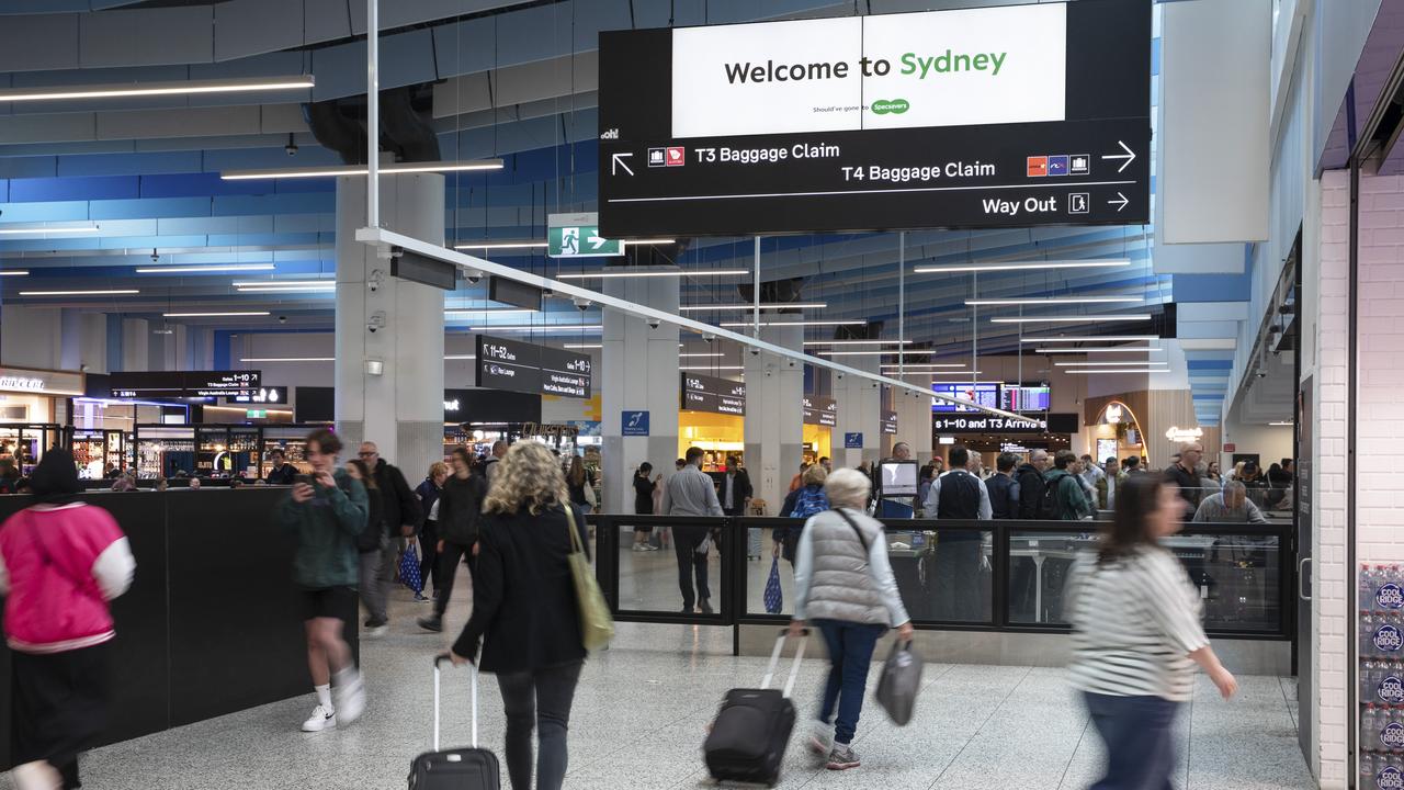
[[[573,510],[588,557],[585,517],[578,507]],[[479,666],[504,673],[585,658],[569,552],[570,533],[560,507],[539,516],[525,509],[514,516],[484,516],[473,569],[473,616],[453,652],[470,658],[482,640]]]

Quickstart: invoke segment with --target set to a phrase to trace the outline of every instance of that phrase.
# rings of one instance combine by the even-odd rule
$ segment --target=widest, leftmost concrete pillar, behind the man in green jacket
[[[365,197],[366,179],[337,179],[337,433],[348,448],[375,441],[418,479],[444,457],[444,291],[390,277],[390,261],[355,240]],[[380,222],[442,245],[444,176],[382,176]]]

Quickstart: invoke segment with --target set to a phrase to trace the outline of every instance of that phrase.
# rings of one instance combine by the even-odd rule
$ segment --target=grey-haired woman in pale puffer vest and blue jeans
[[[911,638],[911,619],[901,604],[887,561],[882,524],[863,513],[872,481],[838,470],[824,484],[833,507],[804,523],[795,557],[796,634],[809,620],[824,634],[831,668],[810,746],[830,770],[858,768],[849,746],[858,728],[873,648],[887,628]],[[834,713],[838,718],[831,724]]]

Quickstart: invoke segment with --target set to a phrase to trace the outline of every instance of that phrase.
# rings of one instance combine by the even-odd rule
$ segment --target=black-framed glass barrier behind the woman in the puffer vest
[[[775,626],[792,611],[793,571],[779,559],[785,606],[767,613],[762,597],[775,530],[797,519],[591,516],[595,571],[615,619],[625,623]],[[1074,555],[1095,540],[1094,522],[883,522],[887,557],[917,628],[1067,633],[1063,586]],[[1293,617],[1290,524],[1185,524],[1164,541],[1185,565],[1205,603],[1210,637],[1287,640]],[[635,551],[635,530],[665,548]],[[681,610],[677,536],[708,531],[709,614]],[[691,534],[689,534],[691,533]],[[670,540],[671,538],[671,540]],[[757,545],[760,559],[757,559]],[[689,578],[696,585],[695,568]]]

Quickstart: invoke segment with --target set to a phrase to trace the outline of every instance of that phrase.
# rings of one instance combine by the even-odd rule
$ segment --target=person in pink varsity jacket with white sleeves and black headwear
[[[37,503],[0,524],[0,596],[14,671],[14,782],[79,787],[79,752],[107,725],[108,602],[136,562],[112,516],[79,502],[77,465],[53,448],[29,477]]]

